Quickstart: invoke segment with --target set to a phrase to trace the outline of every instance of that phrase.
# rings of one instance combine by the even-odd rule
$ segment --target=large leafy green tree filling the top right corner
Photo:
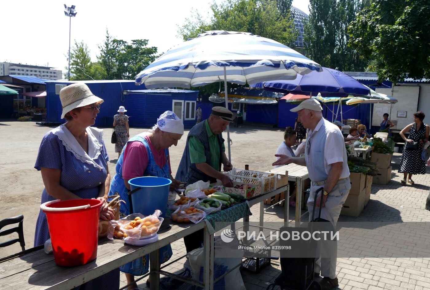
[[[350,25],[350,45],[375,59],[379,81],[430,78],[430,2],[371,0]]]

